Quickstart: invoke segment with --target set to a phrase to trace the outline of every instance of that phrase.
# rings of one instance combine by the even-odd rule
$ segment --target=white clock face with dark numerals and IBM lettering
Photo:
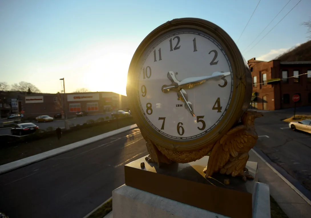
[[[166,33],[146,52],[137,87],[146,120],[166,137],[188,140],[211,131],[233,90],[231,64],[219,42],[192,29]]]

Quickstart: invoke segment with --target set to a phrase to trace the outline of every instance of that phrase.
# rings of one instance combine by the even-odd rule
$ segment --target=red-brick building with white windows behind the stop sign
[[[253,77],[250,108],[278,110],[295,106],[293,95],[300,96],[297,107],[311,106],[311,61],[248,60]]]

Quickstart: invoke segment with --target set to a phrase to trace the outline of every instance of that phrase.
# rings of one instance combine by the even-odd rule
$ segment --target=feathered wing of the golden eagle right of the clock
[[[245,125],[238,125],[230,129],[214,145],[208,159],[205,177],[211,176],[219,171],[229,160],[230,155],[237,157],[247,142]]]

